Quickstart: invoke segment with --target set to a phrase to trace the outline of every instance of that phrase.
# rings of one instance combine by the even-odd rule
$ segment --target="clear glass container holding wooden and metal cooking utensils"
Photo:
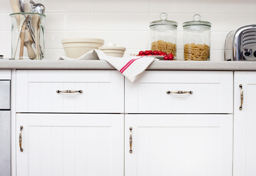
[[[35,13],[11,14],[12,58],[44,59],[45,15]]]

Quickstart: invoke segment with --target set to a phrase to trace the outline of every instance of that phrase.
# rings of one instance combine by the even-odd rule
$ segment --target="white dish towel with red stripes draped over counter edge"
[[[107,56],[101,50],[94,49],[79,57],[78,59],[63,56],[57,58],[57,60],[105,60],[133,83],[133,81],[135,81],[153,61],[159,59],[142,56],[112,57]]]

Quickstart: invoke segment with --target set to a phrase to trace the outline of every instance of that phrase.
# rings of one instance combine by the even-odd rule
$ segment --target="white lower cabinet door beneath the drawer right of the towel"
[[[231,114],[125,115],[125,176],[231,176],[232,133]]]

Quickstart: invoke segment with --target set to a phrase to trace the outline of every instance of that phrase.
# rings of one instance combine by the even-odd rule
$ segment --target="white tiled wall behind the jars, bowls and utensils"
[[[29,0],[25,0],[29,1]],[[226,35],[256,23],[256,0],[34,0],[45,5],[45,57],[65,56],[63,38],[102,38],[127,48],[125,56],[148,49],[149,23],[161,12],[178,22],[177,55],[182,58],[182,23],[200,14],[212,23],[211,61],[224,60]],[[9,0],[0,0],[0,54],[11,57]]]

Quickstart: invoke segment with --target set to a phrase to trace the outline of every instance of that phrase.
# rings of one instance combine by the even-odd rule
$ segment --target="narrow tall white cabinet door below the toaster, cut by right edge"
[[[241,88],[243,105],[241,106]],[[256,72],[234,73],[234,176],[256,175]]]

